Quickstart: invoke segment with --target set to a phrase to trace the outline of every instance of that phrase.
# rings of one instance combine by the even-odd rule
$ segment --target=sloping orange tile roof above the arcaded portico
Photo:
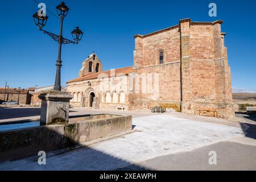
[[[114,69],[114,72],[115,72],[115,76],[117,76],[117,75],[121,75],[121,74],[127,75],[131,72],[134,72],[134,71],[133,71],[133,67],[125,67],[125,68]],[[103,71],[103,72],[98,72],[98,73],[90,73],[89,75],[85,75],[85,76],[82,76],[82,77],[75,78],[71,81],[68,81],[67,84],[71,83],[71,82],[96,79],[96,78],[98,78],[98,76],[103,77],[104,76],[103,74],[108,75],[108,77],[110,77],[110,70]]]

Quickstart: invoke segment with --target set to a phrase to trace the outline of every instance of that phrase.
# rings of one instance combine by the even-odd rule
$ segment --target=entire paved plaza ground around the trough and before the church
[[[27,114],[21,119],[39,117],[36,108],[25,109]],[[1,114],[4,110],[11,113],[0,108]],[[181,113],[152,114],[149,110],[71,109],[71,115],[94,113],[133,115],[134,130],[76,150],[50,152],[43,166],[38,164],[38,156],[32,156],[1,163],[0,170],[256,169],[254,118],[238,115],[240,120],[226,121]],[[18,119],[12,115],[0,122]],[[210,151],[216,151],[216,165],[208,163]]]

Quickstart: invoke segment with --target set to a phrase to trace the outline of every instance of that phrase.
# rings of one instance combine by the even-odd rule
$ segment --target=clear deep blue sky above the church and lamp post
[[[42,0],[47,10],[56,12],[61,1]],[[217,5],[217,17],[208,15],[208,5]],[[229,65],[234,90],[256,92],[256,1],[135,1],[90,0],[65,3],[70,8],[64,20],[64,37],[79,26],[84,31],[79,45],[63,46],[61,84],[78,76],[82,60],[95,51],[104,70],[133,65],[135,34],[147,34],[170,27],[179,19],[192,21],[224,20]],[[37,4],[32,0],[2,1],[0,28],[0,87],[26,88],[53,85],[55,81],[57,42],[38,31],[32,14]],[[59,33],[59,19],[47,12],[47,31]]]

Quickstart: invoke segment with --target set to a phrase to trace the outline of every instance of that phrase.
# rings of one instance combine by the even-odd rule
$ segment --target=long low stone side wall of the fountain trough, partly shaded
[[[96,114],[97,115],[97,114]],[[25,158],[132,130],[132,117],[72,118],[68,125],[47,125],[0,132],[0,161]],[[78,121],[78,122],[76,122]]]

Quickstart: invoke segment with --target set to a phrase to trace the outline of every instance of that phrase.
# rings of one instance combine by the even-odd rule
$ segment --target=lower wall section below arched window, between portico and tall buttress
[[[148,109],[152,103],[180,102],[180,61],[140,68],[136,73],[140,86],[134,85],[131,109]]]

